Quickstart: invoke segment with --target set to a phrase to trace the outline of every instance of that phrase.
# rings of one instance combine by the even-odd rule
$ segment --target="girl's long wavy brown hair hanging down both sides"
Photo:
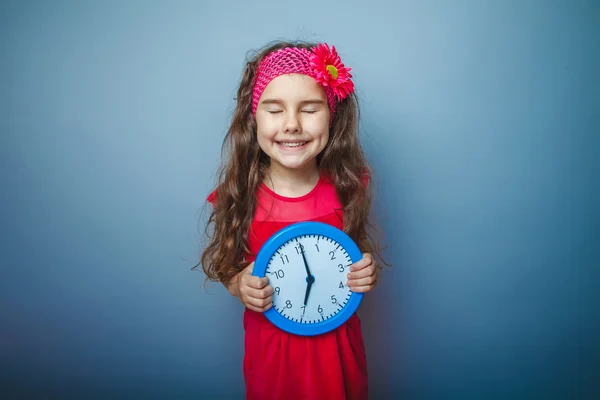
[[[210,240],[199,264],[207,279],[227,283],[248,265],[248,231],[256,209],[256,190],[263,181],[269,158],[256,138],[252,114],[254,76],[261,60],[285,47],[311,48],[314,43],[275,42],[255,51],[247,59],[236,96],[236,107],[223,141],[222,164],[217,174],[216,200],[206,223]],[[379,246],[371,239],[369,220],[371,176],[358,139],[359,104],[355,94],[337,105],[325,149],[317,156],[319,168],[327,172],[337,189],[344,212],[344,231],[362,252],[374,252],[381,258]],[[213,228],[212,235],[208,233]],[[196,268],[197,264],[194,268]]]

